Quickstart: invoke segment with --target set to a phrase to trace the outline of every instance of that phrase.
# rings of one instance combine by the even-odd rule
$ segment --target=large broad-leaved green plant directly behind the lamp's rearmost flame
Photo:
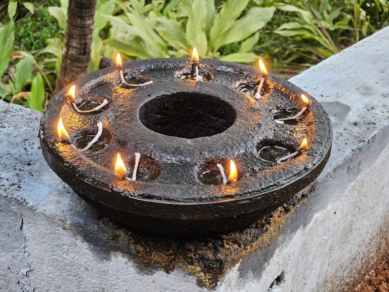
[[[165,7],[155,0],[117,1],[124,13],[103,15],[111,25],[105,44],[132,58],[188,56],[196,47],[202,57],[249,63],[258,58],[250,52],[258,40],[256,32],[275,8],[253,7],[242,16],[248,2],[227,0],[216,12],[213,0],[172,0]],[[223,46],[242,41],[234,52],[220,55]]]

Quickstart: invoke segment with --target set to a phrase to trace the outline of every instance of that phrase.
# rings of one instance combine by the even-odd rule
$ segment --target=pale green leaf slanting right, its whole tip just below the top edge
[[[265,26],[273,17],[276,9],[274,7],[251,8],[244,17],[238,19],[226,33],[221,45],[242,41],[258,29]]]

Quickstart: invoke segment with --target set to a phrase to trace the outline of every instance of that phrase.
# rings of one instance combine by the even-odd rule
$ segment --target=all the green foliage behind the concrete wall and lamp
[[[89,71],[102,56],[267,60],[286,78],[389,24],[387,0],[99,0]],[[43,111],[54,94],[67,0],[0,2],[0,98]]]

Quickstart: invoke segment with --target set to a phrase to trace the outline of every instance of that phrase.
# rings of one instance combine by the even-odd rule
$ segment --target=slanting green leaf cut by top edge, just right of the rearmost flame
[[[214,53],[221,47],[223,34],[242,14],[249,0],[227,0],[211,28],[209,43]]]

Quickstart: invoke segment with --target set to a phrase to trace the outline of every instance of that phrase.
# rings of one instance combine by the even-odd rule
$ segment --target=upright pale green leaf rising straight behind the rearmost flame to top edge
[[[207,53],[207,38],[204,37],[207,10],[205,0],[193,1],[190,14],[186,23],[186,40],[193,47],[196,47],[199,54],[204,56]],[[204,44],[205,42],[205,44]]]

